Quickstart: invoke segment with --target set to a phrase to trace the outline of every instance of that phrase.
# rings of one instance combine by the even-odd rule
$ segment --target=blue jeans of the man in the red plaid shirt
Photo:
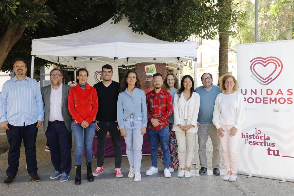
[[[163,154],[163,167],[164,169],[169,168],[169,157],[170,152],[168,148],[168,137],[169,137],[169,127],[166,126],[163,129],[156,130],[150,130],[148,129],[148,138],[150,142],[150,148],[151,148],[151,162],[153,167],[157,167],[157,140],[159,138],[160,145],[162,148],[162,154]]]

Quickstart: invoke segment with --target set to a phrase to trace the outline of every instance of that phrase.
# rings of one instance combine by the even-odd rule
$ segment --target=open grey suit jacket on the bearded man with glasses
[[[69,113],[68,97],[69,97],[69,89],[71,86],[62,84],[62,98],[61,98],[61,113],[64,119],[64,123],[66,125],[67,130],[71,133],[71,122],[72,117]],[[48,119],[49,119],[49,112],[50,112],[50,96],[51,96],[51,85],[45,86],[41,89],[42,99],[45,105],[45,116],[44,116],[44,131],[46,132],[48,127]]]

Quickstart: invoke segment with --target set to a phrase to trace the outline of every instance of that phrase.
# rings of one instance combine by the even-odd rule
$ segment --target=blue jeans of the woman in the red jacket
[[[86,162],[92,162],[92,144],[96,129],[96,123],[91,123],[87,128],[81,124],[71,123],[71,131],[74,134],[74,164],[82,164],[83,143],[85,147]],[[85,138],[83,137],[85,136]]]

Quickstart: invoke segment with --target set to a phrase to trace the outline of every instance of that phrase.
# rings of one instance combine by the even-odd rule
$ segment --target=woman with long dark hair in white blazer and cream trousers
[[[181,88],[173,99],[173,131],[178,141],[178,158],[180,168],[178,177],[190,178],[190,166],[193,156],[193,141],[198,132],[197,119],[200,105],[200,96],[194,92],[194,81],[189,75],[183,76]],[[186,143],[186,146],[185,146]],[[185,169],[186,148],[186,169]]]

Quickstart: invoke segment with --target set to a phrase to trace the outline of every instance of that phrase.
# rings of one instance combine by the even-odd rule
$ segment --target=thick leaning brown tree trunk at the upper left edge
[[[10,52],[11,48],[14,44],[19,41],[22,34],[24,33],[24,29],[26,27],[23,24],[11,24],[9,23],[4,30],[4,34],[0,40],[0,70],[2,65]]]

